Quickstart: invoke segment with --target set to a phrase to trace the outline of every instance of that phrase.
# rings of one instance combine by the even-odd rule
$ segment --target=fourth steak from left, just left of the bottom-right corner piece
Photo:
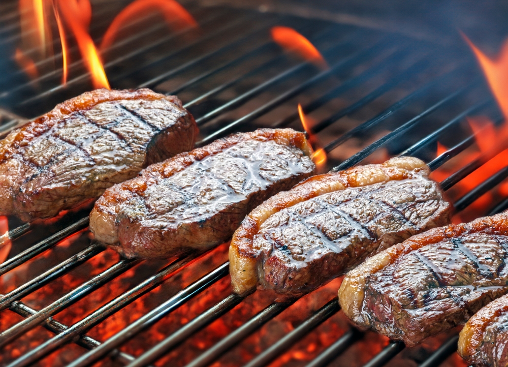
[[[358,326],[415,346],[508,292],[506,262],[508,213],[434,228],[350,271],[339,302]]]

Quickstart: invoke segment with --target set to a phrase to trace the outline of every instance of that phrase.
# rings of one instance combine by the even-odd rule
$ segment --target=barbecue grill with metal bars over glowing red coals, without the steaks
[[[90,33],[100,40],[126,4],[92,4]],[[421,158],[436,170],[474,145],[467,116],[502,120],[461,43],[340,17],[271,12],[266,6],[183,4],[199,28],[169,32],[156,16],[143,17],[126,27],[125,36],[102,57],[114,88],[177,94],[196,117],[198,145],[259,127],[301,130],[296,109],[301,103],[314,120],[309,134],[328,155],[323,171],[396,155]],[[4,135],[26,118],[91,89],[75,45],[67,85],[61,84],[56,51],[39,62],[41,73],[28,79],[11,58],[19,42],[18,16],[16,2],[0,5],[1,62],[7,71],[0,79]],[[305,35],[329,67],[285,53],[270,40],[274,25]],[[451,148],[436,157],[438,141]],[[452,190],[490,158],[480,156],[456,168],[442,188]],[[508,199],[499,195],[481,209],[471,207],[507,177],[503,168],[472,190],[451,194],[457,212],[470,220],[508,208]],[[430,367],[456,351],[456,330],[405,353],[402,343],[348,326],[339,313],[339,280],[302,299],[230,294],[227,244],[167,262],[121,259],[90,239],[88,212],[82,208],[43,223],[9,220],[3,238],[10,238],[12,250],[0,264],[3,365],[198,367],[219,361],[259,367],[276,361]],[[120,314],[129,322],[114,322]]]

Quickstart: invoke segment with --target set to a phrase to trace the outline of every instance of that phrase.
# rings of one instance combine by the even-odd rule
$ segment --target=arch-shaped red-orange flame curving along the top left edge
[[[102,39],[101,50],[111,46],[122,26],[153,12],[160,12],[173,30],[198,25],[194,17],[175,0],[136,0],[113,19]]]

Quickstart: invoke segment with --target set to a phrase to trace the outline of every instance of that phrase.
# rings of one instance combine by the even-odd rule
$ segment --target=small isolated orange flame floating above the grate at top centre
[[[272,39],[283,49],[295,52],[303,59],[321,67],[328,68],[323,55],[308,39],[290,27],[275,26],[271,29]]]

